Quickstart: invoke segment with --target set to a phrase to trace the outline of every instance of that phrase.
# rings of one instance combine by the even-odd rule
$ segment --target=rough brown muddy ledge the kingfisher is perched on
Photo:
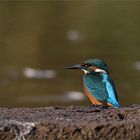
[[[140,105],[0,108],[1,140],[139,140]]]

